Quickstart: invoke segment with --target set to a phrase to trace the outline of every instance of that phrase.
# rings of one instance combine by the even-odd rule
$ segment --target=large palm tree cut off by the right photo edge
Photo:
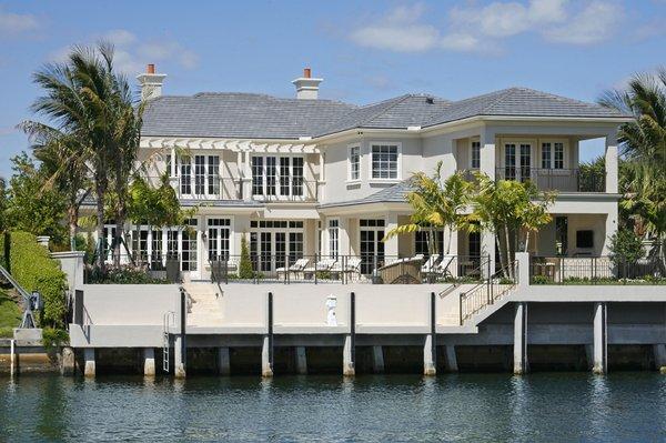
[[[625,90],[606,91],[599,103],[632,114],[618,141],[625,160],[622,209],[632,213],[635,230],[658,242],[666,253],[666,68],[635,74]]]

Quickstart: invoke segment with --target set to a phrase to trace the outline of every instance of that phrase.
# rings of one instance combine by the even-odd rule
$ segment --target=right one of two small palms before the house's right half
[[[548,208],[556,194],[541,192],[531,182],[495,181],[483,173],[476,174],[476,183],[470,220],[495,234],[503,273],[513,279],[515,252],[527,251],[529,234],[551,222]]]

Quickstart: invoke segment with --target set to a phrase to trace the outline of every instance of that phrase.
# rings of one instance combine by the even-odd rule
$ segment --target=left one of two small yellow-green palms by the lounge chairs
[[[431,254],[440,253],[437,233],[448,232],[446,253],[451,251],[453,231],[468,229],[467,218],[463,214],[470,202],[472,183],[456,172],[446,180],[442,179],[442,162],[438,162],[433,177],[417,172],[412,177],[414,190],[406,195],[412,207],[410,223],[400,225],[386,233],[387,239],[416,231],[427,231]]]

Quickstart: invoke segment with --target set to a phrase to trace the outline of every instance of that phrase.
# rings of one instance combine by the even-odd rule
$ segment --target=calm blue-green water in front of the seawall
[[[0,441],[666,441],[666,376],[0,379]]]

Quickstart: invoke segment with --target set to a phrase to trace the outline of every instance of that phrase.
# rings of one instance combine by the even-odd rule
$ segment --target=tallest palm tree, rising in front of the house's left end
[[[74,47],[62,63],[49,63],[33,81],[44,91],[32,104],[36,113],[51,119],[53,128],[77,140],[90,165],[97,205],[98,239],[103,236],[104,199],[114,170],[114,155],[132,139],[128,120],[127,80],[114,72],[113,47]],[[117,234],[119,234],[117,232]],[[104,256],[98,254],[104,272]]]

